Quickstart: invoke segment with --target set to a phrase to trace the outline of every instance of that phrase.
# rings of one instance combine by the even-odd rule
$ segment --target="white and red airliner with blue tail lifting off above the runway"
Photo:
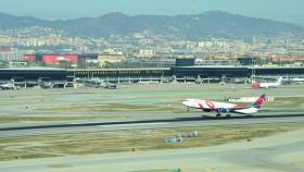
[[[201,109],[204,112],[217,112],[216,116],[220,116],[221,113],[239,113],[239,114],[253,114],[257,113],[261,106],[265,102],[266,96],[263,94],[252,106],[233,105],[227,102],[218,102],[201,99],[186,99],[182,105],[188,108]],[[230,114],[227,114],[230,116]]]

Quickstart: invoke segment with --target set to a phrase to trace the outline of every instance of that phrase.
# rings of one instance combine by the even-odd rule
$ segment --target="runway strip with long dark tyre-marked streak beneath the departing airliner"
[[[45,123],[31,125],[5,125],[0,127],[0,137],[39,135],[39,134],[64,134],[86,132],[115,132],[125,130],[154,130],[187,126],[214,126],[214,125],[248,125],[265,123],[294,123],[304,122],[303,112],[264,112],[254,116],[233,115],[230,118],[191,116],[162,120],[138,121],[80,121],[65,123]]]

